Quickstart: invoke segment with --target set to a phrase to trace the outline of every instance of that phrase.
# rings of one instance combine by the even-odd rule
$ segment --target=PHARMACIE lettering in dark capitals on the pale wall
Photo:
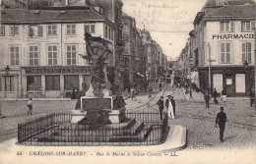
[[[252,39],[254,38],[253,33],[232,33],[232,34],[213,34],[212,39]]]

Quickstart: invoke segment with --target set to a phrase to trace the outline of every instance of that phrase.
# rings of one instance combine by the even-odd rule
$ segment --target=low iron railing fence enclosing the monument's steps
[[[142,145],[164,142],[168,119],[159,112],[126,112],[129,123],[96,130],[71,124],[71,113],[52,113],[18,125],[18,142],[36,145]]]

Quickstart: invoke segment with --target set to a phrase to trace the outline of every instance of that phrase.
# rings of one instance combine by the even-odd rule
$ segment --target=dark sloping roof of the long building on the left
[[[19,14],[18,14],[19,13]],[[21,10],[1,11],[2,23],[49,23],[49,22],[108,21],[91,9],[84,10]]]

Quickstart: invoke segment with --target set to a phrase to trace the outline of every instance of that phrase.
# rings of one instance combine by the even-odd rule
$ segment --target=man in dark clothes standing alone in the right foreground
[[[216,117],[216,128],[219,125],[220,128],[220,139],[221,141],[224,141],[224,127],[226,122],[226,115],[224,113],[224,107],[220,107],[221,112],[218,113]]]

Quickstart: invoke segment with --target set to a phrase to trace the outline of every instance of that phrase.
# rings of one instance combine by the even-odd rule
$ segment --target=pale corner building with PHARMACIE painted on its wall
[[[255,11],[253,1],[224,0],[208,1],[198,13],[194,64],[202,89],[244,96],[255,87]]]

